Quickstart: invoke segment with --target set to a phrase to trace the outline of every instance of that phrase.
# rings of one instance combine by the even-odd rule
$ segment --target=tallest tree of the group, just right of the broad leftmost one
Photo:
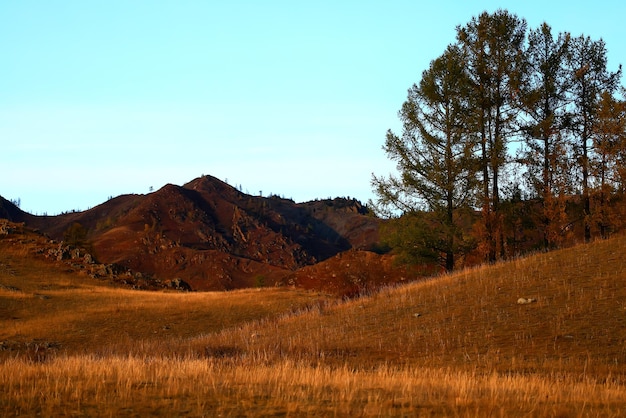
[[[470,127],[479,138],[479,195],[489,261],[505,254],[500,175],[507,161],[508,142],[516,129],[515,96],[521,81],[525,36],[526,21],[504,10],[485,12],[464,27],[457,27],[457,40],[467,57],[472,85]]]

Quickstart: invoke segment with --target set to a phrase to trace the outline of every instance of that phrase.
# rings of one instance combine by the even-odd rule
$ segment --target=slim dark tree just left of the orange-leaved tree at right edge
[[[591,184],[590,141],[598,123],[597,109],[601,94],[613,94],[621,77],[621,67],[617,72],[607,70],[606,47],[604,41],[592,41],[588,36],[572,39],[568,56],[571,86],[571,128],[573,150],[581,174],[581,194],[585,241],[591,240]]]

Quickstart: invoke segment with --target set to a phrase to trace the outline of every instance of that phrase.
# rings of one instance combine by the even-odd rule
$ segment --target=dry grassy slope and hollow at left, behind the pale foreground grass
[[[22,247],[2,244],[0,240],[0,342],[5,348],[47,344],[64,354],[127,355],[150,342],[176,352],[187,338],[329,301],[317,293],[286,289],[226,293],[124,289],[24,255]],[[0,350],[0,358],[12,354]]]

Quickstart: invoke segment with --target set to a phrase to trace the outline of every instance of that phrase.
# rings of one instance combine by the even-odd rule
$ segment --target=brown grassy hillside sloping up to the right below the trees
[[[626,377],[625,253],[620,236],[433,277],[197,343],[360,367]],[[253,347],[250,334],[260,336]]]

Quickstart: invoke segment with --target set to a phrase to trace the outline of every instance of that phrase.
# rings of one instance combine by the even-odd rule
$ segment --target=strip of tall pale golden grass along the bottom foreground
[[[63,357],[0,364],[0,408],[44,416],[619,416],[626,390],[450,369],[371,371],[285,360]]]

